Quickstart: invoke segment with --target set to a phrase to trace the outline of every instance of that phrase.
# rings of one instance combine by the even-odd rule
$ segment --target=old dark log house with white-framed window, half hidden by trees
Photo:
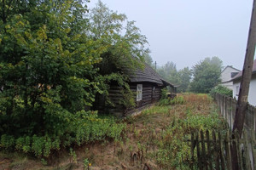
[[[129,80],[130,89],[131,92],[133,92],[136,105],[132,108],[125,108],[121,105],[120,101],[123,99],[123,94],[120,94],[120,88],[118,86],[113,85],[109,90],[109,99],[113,102],[114,106],[105,107],[105,111],[108,110],[108,112],[114,116],[129,116],[159,101],[162,88],[169,86],[169,89],[172,89],[172,94],[176,92],[176,88],[172,83],[160,77],[160,75],[147,64],[145,64],[143,69],[133,71],[129,76]]]

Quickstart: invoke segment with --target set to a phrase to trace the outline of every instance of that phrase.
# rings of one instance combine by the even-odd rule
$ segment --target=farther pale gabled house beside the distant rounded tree
[[[228,65],[224,68],[223,71],[221,71],[220,78],[221,78],[221,85],[232,89],[233,88],[233,82],[230,81],[233,77],[235,77],[240,71],[232,65]]]

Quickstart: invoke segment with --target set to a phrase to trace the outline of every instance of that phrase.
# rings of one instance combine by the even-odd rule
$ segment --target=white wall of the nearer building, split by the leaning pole
[[[238,99],[240,81],[241,80],[234,81],[234,84],[233,84],[233,98],[236,98],[236,99]],[[256,105],[256,75],[253,75],[252,80],[250,82],[248,102],[251,105]]]

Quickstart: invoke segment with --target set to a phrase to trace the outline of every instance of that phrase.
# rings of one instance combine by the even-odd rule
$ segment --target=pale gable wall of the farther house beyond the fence
[[[220,75],[220,78],[221,78],[221,85],[227,87],[227,88],[230,88],[232,89],[233,87],[233,82],[228,82],[231,80],[231,72],[239,72],[239,71],[236,71],[236,69],[230,67],[230,66],[227,66],[224,71],[221,72],[221,75]]]

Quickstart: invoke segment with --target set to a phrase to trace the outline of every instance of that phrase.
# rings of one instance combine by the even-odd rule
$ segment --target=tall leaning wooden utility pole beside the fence
[[[251,16],[251,23],[249,28],[248,40],[247,40],[247,50],[244,59],[241,84],[239,89],[238,100],[236,104],[236,116],[235,122],[232,129],[232,139],[235,139],[236,131],[239,133],[241,138],[243,124],[245,120],[245,114],[247,109],[247,97],[249,92],[250,81],[253,71],[253,57],[255,53],[256,45],[256,0],[253,0],[253,11]],[[237,148],[236,142],[233,141],[231,144],[231,157],[232,157],[232,169],[239,170],[238,158],[237,158]]]

